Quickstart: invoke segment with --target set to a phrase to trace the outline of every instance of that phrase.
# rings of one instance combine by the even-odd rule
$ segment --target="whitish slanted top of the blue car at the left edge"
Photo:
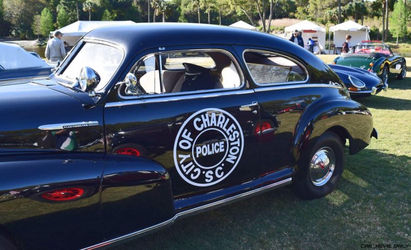
[[[18,44],[0,43],[0,66],[3,69],[20,69],[43,67],[47,63]]]

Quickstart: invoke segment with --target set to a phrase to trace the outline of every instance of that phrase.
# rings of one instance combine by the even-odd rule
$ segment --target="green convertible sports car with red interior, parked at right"
[[[405,58],[394,55],[391,48],[381,41],[362,41],[352,46],[348,53],[341,53],[332,64],[368,70],[377,74],[384,84],[388,83],[390,75],[404,79],[407,70]]]

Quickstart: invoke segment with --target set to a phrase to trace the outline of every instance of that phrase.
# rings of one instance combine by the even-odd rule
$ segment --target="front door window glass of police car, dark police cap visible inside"
[[[136,89],[126,95],[165,94],[242,86],[242,75],[234,58],[225,51],[178,51],[148,55],[131,72]]]

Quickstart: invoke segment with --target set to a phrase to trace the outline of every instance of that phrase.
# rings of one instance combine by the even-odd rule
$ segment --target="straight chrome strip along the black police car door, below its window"
[[[220,90],[221,91],[221,90]],[[195,91],[198,92],[198,91]],[[185,93],[185,92],[184,92]],[[200,93],[200,94],[191,94],[191,95],[165,95],[159,94],[156,95],[154,98],[139,98],[134,100],[126,100],[121,102],[113,102],[113,103],[106,103],[105,108],[109,107],[121,107],[121,106],[128,106],[128,105],[136,105],[136,104],[147,104],[147,103],[159,103],[159,102],[171,102],[171,101],[179,101],[179,100],[190,100],[190,99],[197,99],[197,98],[212,98],[212,97],[221,97],[224,95],[232,95],[232,94],[250,94],[253,93],[252,89],[249,90],[234,90],[234,91],[222,91],[222,92],[213,92],[213,93]],[[147,96],[149,97],[149,96]]]

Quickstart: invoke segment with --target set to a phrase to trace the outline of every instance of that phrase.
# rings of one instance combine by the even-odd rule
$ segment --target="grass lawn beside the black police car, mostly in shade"
[[[334,56],[321,58],[329,63]],[[387,92],[358,99],[371,110],[380,139],[357,155],[346,151],[343,178],[329,196],[305,201],[284,187],[113,249],[411,247],[411,68],[407,71],[403,81],[390,79]]]

